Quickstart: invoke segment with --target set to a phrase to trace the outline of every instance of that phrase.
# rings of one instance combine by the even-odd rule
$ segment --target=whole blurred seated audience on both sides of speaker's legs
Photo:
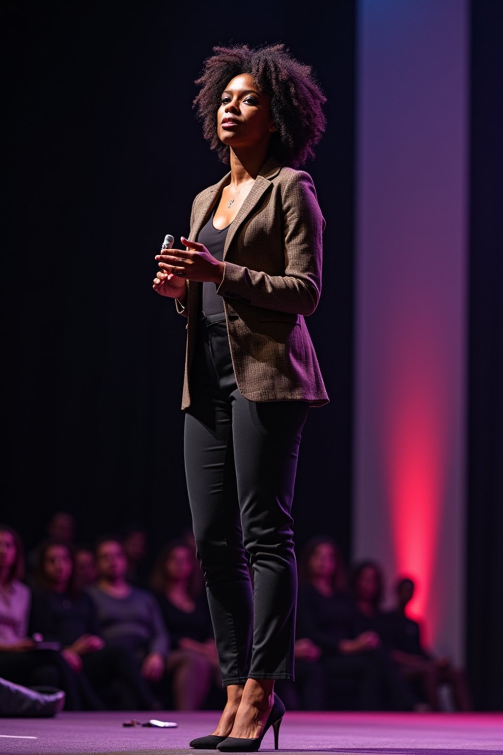
[[[74,552],[74,525],[65,513],[51,518],[53,537],[32,551],[33,592],[21,581],[20,538],[0,525],[0,676],[63,689],[66,710],[219,707],[192,533],[164,547],[149,580],[141,527]],[[287,707],[440,710],[439,686],[447,683],[455,706],[470,710],[464,674],[425,650],[407,615],[412,580],[400,580],[396,608],[384,613],[379,565],[357,565],[348,589],[339,548],[319,537],[302,552],[299,583],[296,681],[277,682]]]

